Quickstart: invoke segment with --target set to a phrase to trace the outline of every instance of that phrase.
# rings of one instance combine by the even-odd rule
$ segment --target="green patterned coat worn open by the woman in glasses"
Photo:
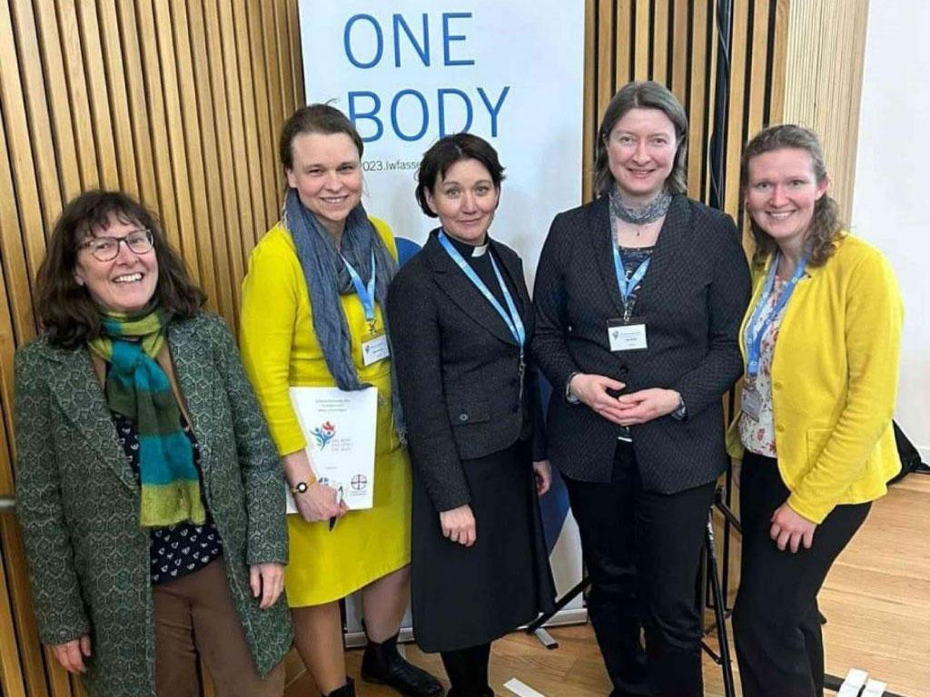
[[[287,560],[280,459],[219,317],[168,326],[179,387],[201,447],[206,500],[259,672],[291,643],[284,596],[259,610],[248,566]],[[140,490],[86,349],[39,338],[16,354],[17,498],[40,638],[89,634],[94,697],[154,695],[149,534]]]

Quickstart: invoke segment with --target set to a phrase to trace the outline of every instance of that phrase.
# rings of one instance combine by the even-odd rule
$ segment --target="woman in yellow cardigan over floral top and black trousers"
[[[745,451],[733,615],[745,697],[823,694],[817,592],[900,469],[900,293],[881,253],[844,231],[828,185],[806,128],[767,128],[743,152],[756,283],[731,454]]]

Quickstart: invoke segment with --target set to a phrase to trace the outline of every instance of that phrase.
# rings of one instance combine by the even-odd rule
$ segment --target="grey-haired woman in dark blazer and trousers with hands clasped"
[[[749,269],[732,219],[684,195],[686,136],[664,86],[618,92],[597,133],[598,198],[552,221],[534,292],[549,453],[618,695],[702,693],[695,584],[726,462],[721,397],[742,371]]]

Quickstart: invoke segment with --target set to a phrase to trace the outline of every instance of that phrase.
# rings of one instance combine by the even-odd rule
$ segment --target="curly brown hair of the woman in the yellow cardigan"
[[[827,180],[827,164],[824,162],[823,148],[817,133],[802,125],[771,125],[755,135],[743,150],[739,163],[739,189],[745,199],[746,189],[750,183],[750,162],[765,152],[777,150],[803,150],[811,157],[811,169],[817,184]],[[752,239],[755,250],[752,264],[763,267],[765,259],[777,251],[777,243],[750,217]],[[804,238],[804,252],[807,265],[823,266],[836,250],[836,241],[843,234],[845,226],[840,219],[840,206],[829,193],[824,193],[814,204],[814,217]]]

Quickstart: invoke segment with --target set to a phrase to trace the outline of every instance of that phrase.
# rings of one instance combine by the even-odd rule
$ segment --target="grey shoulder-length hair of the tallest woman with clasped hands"
[[[596,196],[603,196],[614,186],[614,177],[610,173],[607,158],[607,139],[614,130],[617,122],[631,109],[658,109],[669,117],[675,127],[675,163],[671,174],[666,180],[666,186],[671,193],[687,192],[687,170],[684,159],[688,145],[688,117],[678,99],[665,85],[659,85],[652,80],[636,81],[625,85],[604,110],[604,118],[597,129],[597,138],[594,144],[594,177],[593,186]]]

